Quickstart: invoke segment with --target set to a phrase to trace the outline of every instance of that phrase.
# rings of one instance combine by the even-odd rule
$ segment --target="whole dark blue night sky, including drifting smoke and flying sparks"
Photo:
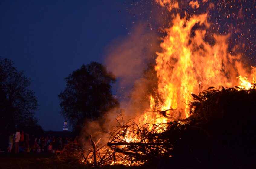
[[[153,2],[0,1],[0,55],[31,78],[30,89],[40,105],[35,115],[44,130],[62,130],[57,95],[65,88],[65,77],[91,61],[109,64],[106,58],[113,54],[110,62],[115,62],[108,66],[117,67],[113,73],[121,78],[120,84],[126,78],[123,84],[131,86],[148,64],[146,60],[155,58],[159,37],[164,36],[162,28],[169,27],[175,13],[207,12],[209,37],[229,34],[229,52],[241,53],[256,64],[255,0],[209,0],[198,9],[178,0],[179,9],[172,12]],[[209,37],[205,40],[211,42]],[[120,84],[114,86],[114,94],[117,86],[124,90]]]

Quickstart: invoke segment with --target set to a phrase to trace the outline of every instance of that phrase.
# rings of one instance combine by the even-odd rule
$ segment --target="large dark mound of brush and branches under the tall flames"
[[[210,87],[192,96],[190,117],[184,120],[153,127],[118,121],[104,147],[107,158],[100,164],[254,168],[256,85],[249,90]],[[96,151],[90,151],[92,158]]]

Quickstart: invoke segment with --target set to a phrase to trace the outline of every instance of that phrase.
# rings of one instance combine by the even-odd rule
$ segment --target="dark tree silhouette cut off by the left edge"
[[[34,92],[28,87],[31,80],[13,66],[13,62],[0,57],[0,130],[20,125],[35,125],[34,111],[39,105]]]

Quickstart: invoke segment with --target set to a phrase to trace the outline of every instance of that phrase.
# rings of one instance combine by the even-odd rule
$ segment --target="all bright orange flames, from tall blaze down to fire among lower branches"
[[[157,2],[164,5],[174,1]],[[197,3],[194,1],[190,5],[197,7]],[[162,51],[157,52],[155,66],[159,96],[149,96],[148,110],[134,120],[136,127],[155,133],[163,132],[168,121],[189,117],[189,103],[193,100],[191,94],[199,94],[208,87],[239,86],[250,89],[253,86],[256,68],[243,64],[241,55],[228,52],[229,35],[214,34],[214,45],[204,40],[210,27],[208,18],[208,14],[195,15],[190,19],[177,15],[172,26],[165,29],[167,35],[162,38]],[[196,24],[201,28],[194,30],[194,36],[191,36]],[[127,143],[142,140],[146,143],[147,140],[135,131],[135,128],[128,127],[119,137]],[[130,165],[122,160],[117,163]]]

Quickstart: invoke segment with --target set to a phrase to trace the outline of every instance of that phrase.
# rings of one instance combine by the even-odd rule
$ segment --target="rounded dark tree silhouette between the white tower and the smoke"
[[[102,120],[107,111],[119,106],[111,92],[115,76],[100,63],[83,64],[65,81],[66,88],[58,95],[60,114],[69,120],[76,132],[81,130],[86,121]]]

